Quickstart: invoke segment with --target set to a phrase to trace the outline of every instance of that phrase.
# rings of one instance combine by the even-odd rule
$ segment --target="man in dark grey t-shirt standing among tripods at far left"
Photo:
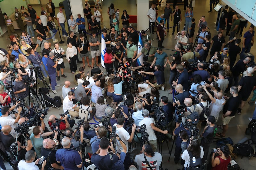
[[[23,100],[25,100],[25,107],[27,107],[29,109],[29,102],[30,102],[30,107],[33,107],[33,101],[29,101],[29,86],[32,87],[32,83],[31,82],[26,82],[23,78],[22,78],[22,74],[18,73],[15,76],[15,83],[14,83],[14,88],[13,88],[13,92],[15,95],[17,95],[18,97],[23,98]]]

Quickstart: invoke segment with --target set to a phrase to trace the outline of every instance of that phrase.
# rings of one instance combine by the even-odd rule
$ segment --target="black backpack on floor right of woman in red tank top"
[[[250,159],[254,152],[252,146],[249,144],[235,144],[233,153],[236,153],[237,155],[242,155],[242,158],[244,156],[248,156],[248,158]]]

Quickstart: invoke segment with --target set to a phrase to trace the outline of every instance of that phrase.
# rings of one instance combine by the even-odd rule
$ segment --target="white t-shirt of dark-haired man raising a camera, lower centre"
[[[114,124],[116,126],[117,124]],[[127,132],[123,127],[117,128],[116,126],[116,134],[120,137],[120,139],[125,143],[126,146],[128,146],[128,140],[130,139],[129,132]],[[116,140],[116,152],[121,153],[123,150],[120,142]],[[128,152],[128,149],[126,150],[126,153]]]

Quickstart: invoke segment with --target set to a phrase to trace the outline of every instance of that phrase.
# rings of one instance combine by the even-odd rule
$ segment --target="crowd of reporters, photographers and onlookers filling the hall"
[[[28,10],[24,6],[21,6],[20,11],[15,8],[16,20],[22,30],[21,36],[14,31],[12,20],[10,21],[6,13],[4,14],[10,44],[7,50],[0,48],[2,84],[0,102],[3,106],[0,117],[0,140],[5,154],[15,156],[16,166],[20,170],[39,169],[39,167],[82,169],[86,166],[83,155],[86,147],[84,138],[90,141],[91,162],[98,169],[136,169],[131,165],[128,143],[132,143],[135,133],[137,135],[140,132],[143,136],[142,150],[133,161],[138,169],[159,169],[161,166],[163,158],[159,152],[156,152],[159,142],[156,134],[164,136],[172,134],[176,137],[174,163],[178,164],[181,158],[181,164],[185,169],[194,166],[190,161],[192,157],[196,160],[200,159],[201,166],[208,160],[211,169],[227,169],[232,159],[227,145],[221,145],[211,157],[209,157],[209,149],[215,136],[228,136],[230,120],[236,115],[243,114],[242,109],[252,90],[254,96],[249,103],[255,102],[256,79],[253,74],[256,64],[253,62],[253,56],[244,55],[244,52],[250,52],[254,43],[253,25],[244,33],[243,40],[236,38],[240,29],[239,35],[242,36],[245,20],[226,5],[221,12],[220,30],[217,35],[207,31],[205,16],[198,20],[199,31],[195,43],[197,45],[194,47],[196,23],[193,18],[193,3],[185,0],[183,11],[186,25],[185,29],[179,31],[183,12],[177,4],[174,3],[172,9],[170,4],[166,4],[166,0],[162,0],[163,14],[158,16],[161,10],[157,9],[156,4],[151,4],[145,16],[149,20],[151,35],[155,32],[155,25],[157,27],[158,47],[152,46],[152,37],[142,30],[143,48],[137,55],[139,34],[129,26],[130,17],[125,9],[120,17],[120,10],[115,9],[114,4],[110,4],[107,11],[110,26],[108,33],[106,28],[101,29],[103,18],[100,1],[96,0],[93,12],[88,1],[85,1],[84,18],[81,14],[77,14],[75,19],[70,14],[67,22],[70,31],[67,33],[66,18],[62,9],[59,9],[55,17],[52,0],[49,0],[49,3],[52,5],[52,12],[48,14],[44,7],[41,7],[40,18],[31,5],[28,6]],[[209,12],[212,12],[212,3],[213,1],[210,1]],[[23,23],[20,23],[22,15],[27,22],[27,31]],[[84,26],[85,17],[92,33],[88,38]],[[173,19],[173,36],[177,28],[177,34],[173,39],[177,44],[174,47],[175,53],[168,57],[163,51],[163,45],[165,35],[169,32],[170,18],[171,21]],[[62,28],[62,36],[67,37],[66,50],[60,47],[54,37],[56,31],[54,19]],[[122,28],[119,27],[120,19]],[[37,33],[36,42],[33,41],[34,29]],[[223,37],[225,29],[227,29],[225,35],[229,37],[227,43]],[[103,33],[106,43],[104,55],[106,74],[102,71],[90,77],[89,71],[87,74],[84,72],[85,60],[91,69],[95,65],[100,67],[101,39],[98,36],[100,32]],[[49,33],[54,44],[45,40],[50,37]],[[52,45],[54,45],[53,49]],[[38,47],[40,52],[36,52]],[[138,66],[137,59],[142,54],[144,54],[144,62]],[[209,54],[210,58],[207,61]],[[238,54],[240,60],[236,62]],[[57,59],[56,56],[61,57]],[[79,61],[78,56],[82,61]],[[74,77],[72,83],[64,74],[65,59]],[[83,63],[83,66],[78,68],[77,63]],[[166,85],[164,76],[167,66],[170,66],[170,74],[167,77],[169,85]],[[242,78],[239,78],[241,73]],[[60,86],[57,84],[60,77],[66,78],[61,93],[64,99],[63,112],[68,114],[60,115],[58,118],[56,115],[49,115],[50,129],[47,129],[45,125],[47,122],[44,122],[44,116],[41,115],[40,124],[33,126],[30,134],[19,134],[14,129],[28,121],[28,118],[21,117],[25,107],[33,111],[34,103],[30,99],[30,91],[36,86],[37,80],[44,81],[42,80],[44,77],[49,78],[50,84],[47,85],[55,94],[58,93],[56,87]],[[71,88],[73,83],[76,88]],[[167,86],[170,88],[167,89]],[[12,88],[13,96],[6,93],[7,88]],[[130,89],[134,92],[132,93]],[[160,97],[158,89],[168,91],[173,98],[170,99],[168,95]],[[24,99],[24,108],[19,106],[19,101],[12,104],[15,98]],[[106,99],[111,102],[107,103]],[[13,110],[17,113],[11,114]],[[87,118],[84,122],[80,122],[78,127],[74,127],[74,119],[80,116],[81,110],[87,113]],[[159,119],[159,110],[165,116],[165,124],[159,123],[163,121],[161,116]],[[103,122],[107,120],[107,124],[103,123],[103,126],[99,124],[92,128],[89,123],[92,119]],[[221,123],[217,125],[219,119]],[[249,118],[252,119],[256,119],[256,110],[252,118]],[[172,121],[175,122],[175,127]],[[194,124],[192,129],[189,126],[190,122]],[[147,140],[143,139],[145,137],[143,128],[148,134]],[[217,133],[217,128],[222,132]],[[62,140],[60,140],[60,132],[64,136]],[[43,161],[40,160],[41,156],[44,157]],[[5,169],[1,159],[0,157],[0,167]]]

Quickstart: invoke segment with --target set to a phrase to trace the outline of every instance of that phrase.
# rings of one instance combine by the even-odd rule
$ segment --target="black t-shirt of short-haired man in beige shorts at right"
[[[231,96],[228,101],[226,101],[224,107],[223,107],[223,114],[225,114],[227,111],[231,111],[231,114],[229,116],[235,116],[236,110],[240,104],[241,101],[241,95],[238,95],[236,97]]]

